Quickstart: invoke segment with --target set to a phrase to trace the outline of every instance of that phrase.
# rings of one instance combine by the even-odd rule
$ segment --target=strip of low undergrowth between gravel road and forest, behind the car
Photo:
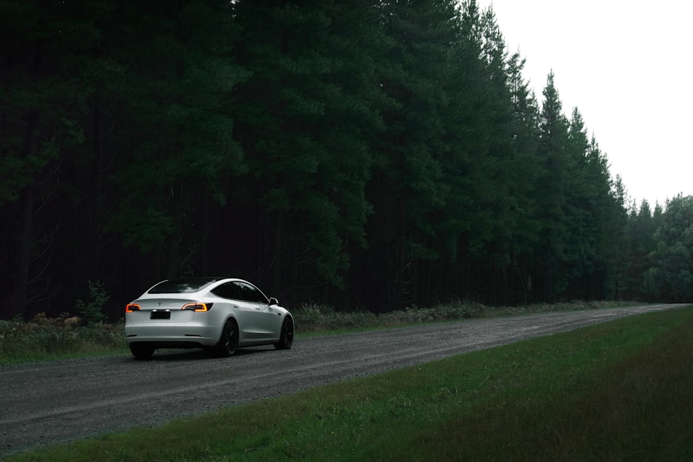
[[[91,301],[87,306],[91,306]],[[448,303],[435,308],[407,308],[381,314],[367,311],[337,312],[324,305],[303,305],[292,310],[297,336],[320,332],[406,326],[416,323],[454,321],[475,317],[505,316],[529,312],[612,308],[633,303],[571,302],[557,305],[489,308],[479,303]],[[98,306],[98,305],[97,305]],[[122,321],[104,322],[93,307],[80,310],[82,317],[63,313],[55,318],[37,314],[31,321],[0,320],[0,364],[128,353]],[[86,315],[85,315],[86,314]]]

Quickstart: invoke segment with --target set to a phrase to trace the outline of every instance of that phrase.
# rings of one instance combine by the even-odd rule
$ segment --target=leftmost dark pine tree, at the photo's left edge
[[[0,283],[0,310],[30,314],[30,305],[55,290],[51,245],[62,159],[83,141],[80,115],[89,89],[80,53],[98,34],[91,12],[75,2],[0,4],[0,217],[15,223],[0,233],[0,260],[11,278]]]

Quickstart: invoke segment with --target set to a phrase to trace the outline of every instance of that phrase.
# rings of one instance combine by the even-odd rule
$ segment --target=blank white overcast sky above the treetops
[[[579,109],[638,206],[693,195],[693,2],[477,0],[509,52],[526,58],[540,105],[546,76]]]

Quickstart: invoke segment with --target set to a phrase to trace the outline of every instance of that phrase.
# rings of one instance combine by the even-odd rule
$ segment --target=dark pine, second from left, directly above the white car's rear
[[[149,255],[151,274],[172,277],[189,270],[208,232],[188,220],[208,202],[223,203],[225,183],[247,169],[229,110],[246,74],[230,57],[231,8],[218,1],[137,3],[121,16],[122,48],[112,52],[128,63],[132,125],[109,229]]]

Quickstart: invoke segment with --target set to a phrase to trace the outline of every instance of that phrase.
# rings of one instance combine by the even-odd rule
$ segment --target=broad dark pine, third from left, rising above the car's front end
[[[378,3],[236,5],[238,59],[253,75],[236,93],[235,134],[271,230],[259,245],[275,290],[283,276],[307,290],[343,287],[347,249],[365,244],[371,143],[387,104]]]

